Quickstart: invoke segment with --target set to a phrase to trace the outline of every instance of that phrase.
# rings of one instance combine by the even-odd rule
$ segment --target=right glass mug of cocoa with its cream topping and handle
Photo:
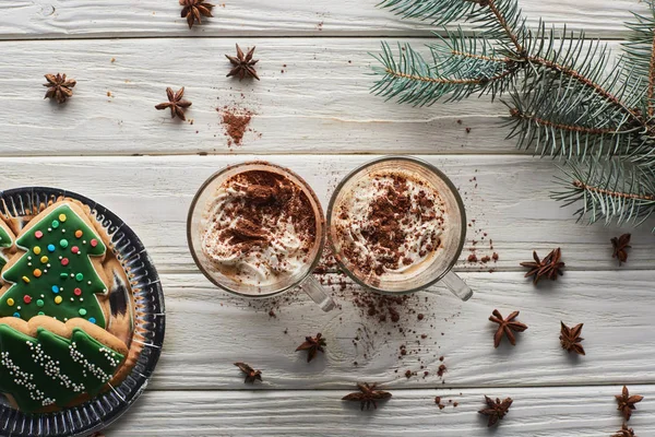
[[[408,185],[405,178],[414,182]],[[379,196],[374,196],[376,190]],[[436,203],[434,196],[426,194],[430,192],[437,193],[438,205],[432,204]],[[417,215],[407,214],[396,220],[394,202],[401,210],[412,210]],[[402,234],[400,226],[412,229],[410,241],[404,236],[397,237]],[[428,233],[427,228],[431,231]],[[436,241],[434,247],[430,246],[431,241],[426,241],[430,236]],[[473,296],[468,285],[452,272],[466,239],[464,203],[452,181],[421,160],[386,156],[350,172],[330,200],[327,239],[340,267],[366,290],[408,294],[441,282],[462,300]],[[373,252],[367,247],[370,240],[384,244],[377,245],[377,252]],[[398,256],[398,248],[408,253],[414,250],[413,258],[420,264],[412,265],[412,257]],[[432,251],[433,256],[430,255]],[[397,270],[386,274],[385,263],[394,259],[394,255],[393,268]]]

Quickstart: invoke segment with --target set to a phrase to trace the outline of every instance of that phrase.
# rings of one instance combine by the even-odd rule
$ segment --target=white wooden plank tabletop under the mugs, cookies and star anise
[[[428,24],[401,21],[377,2],[228,0],[192,31],[177,0],[0,4],[0,188],[57,186],[112,209],[141,236],[164,284],[158,368],[107,435],[488,436],[476,413],[488,394],[514,399],[495,435],[605,436],[620,428],[614,394],[627,383],[646,398],[630,426],[655,436],[653,223],[633,231],[629,262],[619,268],[609,238],[623,231],[576,224],[572,209],[550,200],[555,163],[504,140],[500,103],[414,108],[370,95],[368,54],[381,39],[415,47],[431,40]],[[636,0],[521,4],[533,25],[539,16],[567,22],[610,46],[626,37],[629,10],[645,11]],[[225,78],[224,54],[234,54],[235,43],[257,45],[261,82]],[[43,101],[48,72],[78,80],[64,106]],[[154,109],[167,86],[186,86],[193,125]],[[257,114],[240,147],[227,146],[215,110],[224,105]],[[456,270],[476,292],[471,302],[437,286],[437,295],[410,298],[398,323],[379,322],[353,304],[358,291],[349,284],[334,287],[341,311],[322,314],[300,294],[249,305],[196,271],[187,208],[226,164],[264,157],[288,166],[325,205],[354,166],[398,152],[438,165],[463,193],[475,222]],[[565,275],[535,288],[519,262],[555,247],[562,248]],[[472,248],[478,258],[496,251],[500,259],[466,262]],[[529,326],[515,347],[493,350],[487,318],[495,308],[521,310]],[[560,320],[585,323],[585,357],[560,349]],[[294,350],[317,332],[327,350],[308,365]],[[401,345],[409,353],[398,357]],[[264,382],[245,385],[237,361],[261,368]],[[406,378],[407,369],[418,375]],[[394,397],[360,412],[341,401],[357,381],[377,381]]]

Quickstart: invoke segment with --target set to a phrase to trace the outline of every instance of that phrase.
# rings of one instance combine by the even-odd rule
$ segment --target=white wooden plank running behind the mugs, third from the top
[[[326,208],[337,182],[374,157],[274,155],[270,161],[306,178]],[[653,269],[653,223],[638,229],[576,224],[571,208],[561,209],[549,198],[557,174],[550,160],[516,155],[422,157],[453,179],[467,208],[472,226],[458,271],[524,271],[519,262],[529,260],[533,249],[544,256],[558,246],[571,270],[616,270],[619,267],[611,259],[609,239],[626,231],[633,233],[633,247],[629,262],[620,269]],[[187,211],[193,194],[224,166],[257,158],[261,157],[12,157],[0,160],[0,187],[41,185],[81,192],[114,210],[134,228],[162,272],[194,272],[186,241]],[[466,262],[474,249],[478,258],[496,251],[500,260],[496,264]]]

